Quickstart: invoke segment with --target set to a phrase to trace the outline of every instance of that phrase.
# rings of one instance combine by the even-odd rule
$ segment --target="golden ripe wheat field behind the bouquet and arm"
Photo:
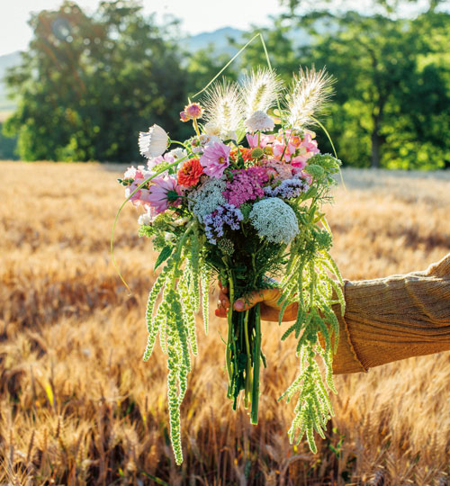
[[[212,318],[182,409],[184,464],[167,436],[166,365],[141,361],[155,254],[122,212],[118,166],[0,163],[0,484],[444,486],[450,353],[336,377],[319,453],[290,446],[293,342],[265,323],[260,423],[226,400],[226,332]],[[450,251],[450,174],[345,170],[327,208],[347,279],[425,269]]]

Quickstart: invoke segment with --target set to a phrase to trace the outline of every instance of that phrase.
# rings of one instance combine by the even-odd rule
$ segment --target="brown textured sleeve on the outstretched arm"
[[[424,272],[346,282],[335,374],[450,350],[450,254]]]

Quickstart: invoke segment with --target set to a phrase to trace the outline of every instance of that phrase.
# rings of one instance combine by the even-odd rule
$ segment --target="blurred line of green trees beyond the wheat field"
[[[335,77],[323,121],[345,165],[448,168],[450,14],[436,1],[406,18],[398,4],[384,5],[378,14],[305,14],[289,0],[270,28],[246,37],[263,33],[286,80],[299,65],[327,67]],[[29,49],[6,76],[19,104],[3,128],[25,160],[139,160],[138,132],[152,123],[183,139],[188,127],[178,113],[187,97],[228,60],[206,46],[186,52],[178,23],[157,24],[133,1],[103,2],[91,15],[66,1],[30,23]],[[303,45],[293,35],[299,29],[309,35]],[[236,78],[260,64],[266,58],[254,42],[226,74]]]

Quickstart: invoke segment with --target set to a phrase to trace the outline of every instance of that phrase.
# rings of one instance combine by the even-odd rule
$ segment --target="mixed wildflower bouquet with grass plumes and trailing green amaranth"
[[[307,127],[320,123],[313,115],[329,93],[330,77],[315,69],[300,69],[287,87],[271,68],[259,68],[240,85],[216,82],[201,103],[189,100],[180,113],[181,121],[192,121],[193,136],[171,140],[153,125],[139,135],[146,166],[131,166],[119,179],[127,201],[144,210],[139,236],[152,238],[159,251],[155,268],[164,264],[148,297],[144,359],[159,338],[177,464],[183,461],[180,406],[197,354],[195,316],[202,303],[208,332],[211,278],[228,287],[230,302],[278,285],[280,322],[287,306],[298,302],[282,339],[297,339],[299,372],[281,398],[297,395],[291,441],[306,434],[316,451],[314,430],[324,437],[338,345],[331,306],[340,302],[343,311],[344,298],[321,205],[330,199],[340,162],[320,153]],[[257,424],[259,374],[266,366],[259,304],[242,312],[231,307],[224,354],[233,409],[242,399]]]

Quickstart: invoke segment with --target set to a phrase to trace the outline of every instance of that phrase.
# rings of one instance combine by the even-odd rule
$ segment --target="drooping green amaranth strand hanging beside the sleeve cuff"
[[[306,434],[312,452],[317,451],[314,431],[324,437],[329,418],[333,415],[329,392],[336,392],[332,378],[332,356],[338,349],[339,324],[331,306],[340,303],[344,313],[345,300],[339,284],[343,284],[338,267],[329,255],[332,236],[329,225],[320,213],[322,202],[329,198],[327,192],[335,184],[332,175],[338,172],[340,161],[329,155],[311,157],[306,170],[314,175],[316,191],[308,207],[298,212],[302,220],[302,232],[294,239],[290,258],[282,280],[280,296],[280,323],[290,303],[298,302],[297,319],[284,332],[282,340],[293,335],[298,339],[297,355],[300,356],[300,372],[292,385],[280,397],[290,401],[298,395],[293,424],[289,430],[291,442],[297,444]],[[298,210],[297,210],[298,211]],[[325,366],[322,376],[317,357]]]

